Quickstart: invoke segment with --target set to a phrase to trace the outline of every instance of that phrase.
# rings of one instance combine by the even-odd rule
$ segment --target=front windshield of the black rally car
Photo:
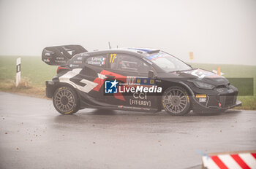
[[[185,71],[191,69],[186,63],[165,52],[159,52],[147,57],[165,71]]]

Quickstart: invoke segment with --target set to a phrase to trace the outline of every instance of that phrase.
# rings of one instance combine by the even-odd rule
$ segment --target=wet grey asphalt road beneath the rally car
[[[0,168],[200,168],[197,150],[256,149],[256,111],[172,117],[83,109],[0,93]]]

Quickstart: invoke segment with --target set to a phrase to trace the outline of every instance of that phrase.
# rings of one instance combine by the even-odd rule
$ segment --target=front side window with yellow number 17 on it
[[[143,60],[127,54],[110,54],[110,68],[120,71],[130,71],[140,74],[148,73],[150,67]]]

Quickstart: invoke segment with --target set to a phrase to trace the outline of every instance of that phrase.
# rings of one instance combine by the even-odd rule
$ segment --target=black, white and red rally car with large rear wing
[[[225,111],[241,106],[238,90],[223,76],[162,50],[119,48],[88,52],[80,45],[45,47],[42,60],[57,68],[46,96],[61,114],[80,109]]]

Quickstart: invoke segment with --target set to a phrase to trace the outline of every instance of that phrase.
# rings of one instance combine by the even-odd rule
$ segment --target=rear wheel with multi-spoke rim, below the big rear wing
[[[53,94],[53,106],[61,114],[74,114],[80,109],[78,94],[71,87],[58,87]]]

